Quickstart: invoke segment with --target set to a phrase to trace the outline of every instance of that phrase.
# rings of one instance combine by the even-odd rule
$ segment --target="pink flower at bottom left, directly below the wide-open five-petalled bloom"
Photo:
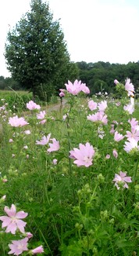
[[[22,254],[23,251],[28,251],[27,241],[27,237],[23,238],[22,240],[12,240],[12,243],[9,244],[9,248],[11,249],[11,251],[9,251],[8,254],[14,254],[18,256]]]

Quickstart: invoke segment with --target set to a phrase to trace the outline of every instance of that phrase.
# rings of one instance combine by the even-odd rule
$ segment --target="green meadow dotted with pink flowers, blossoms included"
[[[52,112],[1,99],[0,255],[137,255],[138,102],[68,88]]]

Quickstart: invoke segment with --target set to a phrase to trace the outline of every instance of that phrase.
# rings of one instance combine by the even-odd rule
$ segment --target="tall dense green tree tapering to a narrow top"
[[[30,12],[8,33],[5,59],[12,78],[34,97],[48,100],[63,86],[68,79],[69,53],[59,20],[53,21],[48,3],[31,1]]]

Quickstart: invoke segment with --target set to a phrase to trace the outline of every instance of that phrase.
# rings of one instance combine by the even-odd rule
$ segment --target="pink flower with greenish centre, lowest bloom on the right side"
[[[119,185],[122,185],[123,188],[128,188],[127,182],[132,182],[131,177],[127,177],[127,172],[123,173],[122,171],[119,174],[115,174],[115,178],[112,181],[115,181],[117,189],[120,188]]]

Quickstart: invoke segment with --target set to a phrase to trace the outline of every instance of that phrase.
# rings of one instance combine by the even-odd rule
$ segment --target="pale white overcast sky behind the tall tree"
[[[46,2],[46,1],[45,1]],[[48,0],[59,20],[70,60],[127,64],[139,60],[139,0]],[[30,10],[30,0],[0,1],[0,75],[6,35]]]

